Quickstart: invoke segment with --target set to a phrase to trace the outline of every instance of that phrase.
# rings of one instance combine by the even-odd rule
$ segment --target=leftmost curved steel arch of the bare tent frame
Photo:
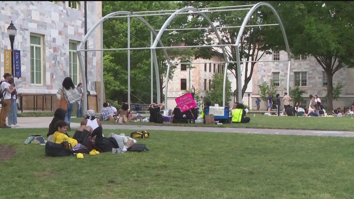
[[[93,33],[93,31],[98,27],[99,24],[103,23],[105,20],[109,19],[108,17],[112,17],[112,16],[116,16],[116,15],[123,15],[123,14],[126,14],[126,15],[130,15],[130,16],[135,16],[135,15],[138,15],[138,14],[135,14],[135,13],[132,13],[132,12],[128,12],[128,11],[118,11],[118,12],[112,12],[112,13],[109,13],[108,15],[102,17],[98,22],[96,22],[93,27],[89,30],[89,32],[86,33],[84,39],[80,42],[80,45],[78,47],[78,50],[76,51],[77,52],[77,55],[78,55],[78,58],[79,58],[79,64],[80,64],[80,69],[81,69],[81,78],[82,78],[82,83],[84,85],[84,89],[83,89],[83,92],[84,92],[84,109],[83,111],[86,112],[87,111],[87,83],[86,83],[86,78],[85,78],[85,67],[84,67],[84,64],[83,64],[83,58],[81,56],[81,51],[80,50],[83,50],[83,47],[85,45],[85,42],[87,41],[87,39],[89,38],[89,36]],[[145,23],[145,25],[152,31],[152,33],[156,36],[157,33],[155,31],[155,29],[145,20],[143,19],[142,17],[140,16],[136,16],[141,22]],[[102,32],[103,34],[103,32]],[[103,35],[102,35],[103,36]],[[101,42],[103,42],[103,39],[102,39],[102,36],[101,36]],[[158,40],[159,44],[161,46],[164,46],[164,44],[162,44],[161,40],[159,39]],[[169,66],[171,64],[171,61],[170,61],[170,57],[169,55],[167,54],[167,51],[166,49],[163,49],[164,50],[164,54],[165,54],[165,57],[166,57],[166,61],[168,62]],[[155,73],[156,73],[156,77],[159,76],[159,67],[157,65],[157,62],[154,64],[155,65]],[[101,66],[101,71],[102,71],[102,74],[101,74],[101,79],[103,81],[103,65]],[[101,84],[101,87],[103,87],[103,84]],[[159,95],[160,95],[160,78],[156,78],[156,89],[157,89],[157,95],[158,95],[158,98]],[[103,99],[103,89],[101,89],[101,99]],[[101,106],[102,106],[102,103],[101,103]]]

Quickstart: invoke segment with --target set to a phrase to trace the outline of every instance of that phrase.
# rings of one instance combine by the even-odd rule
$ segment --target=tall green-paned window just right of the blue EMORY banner
[[[30,53],[31,53],[31,84],[42,85],[42,36],[30,35]]]

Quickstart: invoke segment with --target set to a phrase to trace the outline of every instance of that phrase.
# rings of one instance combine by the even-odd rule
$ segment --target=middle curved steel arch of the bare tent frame
[[[176,17],[177,13],[180,13],[180,12],[184,12],[184,11],[194,11],[194,12],[199,12],[200,10],[194,8],[194,7],[186,7],[186,8],[181,8],[179,10],[177,10],[176,12],[174,12],[167,20],[166,22],[164,23],[164,25],[162,25],[158,35],[156,36],[155,40],[154,40],[154,43],[153,45],[151,46],[151,49],[152,49],[152,52],[153,52],[153,56],[154,56],[154,62],[156,62],[157,64],[157,57],[156,57],[156,46],[157,46],[157,43],[158,41],[160,41],[160,38],[162,36],[162,33],[164,33],[165,29],[167,28],[167,25],[169,25],[171,23],[171,21]],[[223,44],[221,38],[220,38],[220,35],[219,33],[217,32],[215,26],[213,25],[213,23],[211,22],[211,20],[204,14],[204,13],[200,13],[200,15],[206,19],[208,21],[208,23],[210,24],[211,28],[213,29],[213,31],[215,32],[218,40],[219,40],[219,44]],[[225,53],[225,46],[222,46],[222,52],[223,52],[223,55],[224,55],[224,61],[225,61],[225,67],[227,68],[228,66],[228,57]],[[169,74],[170,74],[170,66],[171,64],[169,63],[169,65],[167,66],[167,73],[166,73],[166,92],[165,92],[165,107],[167,107],[167,92],[168,92],[168,83],[169,83]],[[226,77],[226,74],[227,74],[227,70],[224,70],[225,71],[225,74],[224,74],[224,86],[223,86],[223,106],[225,106],[225,77]],[[159,99],[158,99],[159,100]]]

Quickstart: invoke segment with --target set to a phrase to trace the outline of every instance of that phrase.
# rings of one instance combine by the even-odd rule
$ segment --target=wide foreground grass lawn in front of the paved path
[[[275,119],[275,118],[274,118]],[[311,118],[312,119],[312,118]],[[105,130],[117,134],[131,131]],[[46,129],[0,131],[17,149],[0,162],[0,198],[353,198],[353,138],[150,131],[149,152],[45,157],[23,141]],[[71,133],[72,134],[72,133]]]

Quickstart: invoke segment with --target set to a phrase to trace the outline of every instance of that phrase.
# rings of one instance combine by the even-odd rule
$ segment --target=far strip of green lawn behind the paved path
[[[81,119],[73,118],[71,122],[80,123]],[[128,124],[117,124],[115,122],[104,121],[102,124],[116,125],[164,125],[164,126],[197,126],[197,127],[234,127],[234,128],[255,128],[255,129],[297,129],[297,130],[331,130],[331,131],[353,131],[354,119],[350,116],[343,117],[292,117],[292,116],[264,116],[256,115],[248,124],[155,124],[145,122],[131,122]]]

